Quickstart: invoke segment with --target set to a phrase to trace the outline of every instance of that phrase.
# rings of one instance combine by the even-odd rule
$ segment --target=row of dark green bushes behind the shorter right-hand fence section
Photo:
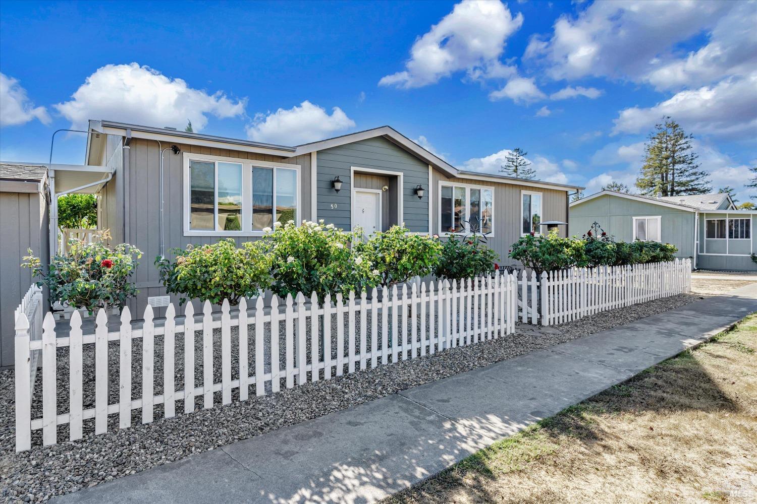
[[[602,233],[593,237],[591,233],[583,238],[561,238],[557,233],[548,236],[534,236],[533,233],[521,237],[512,244],[509,257],[521,261],[524,267],[537,274],[542,271],[562,270],[566,267],[620,266],[623,264],[646,264],[674,259],[678,249],[670,243],[615,242]]]

